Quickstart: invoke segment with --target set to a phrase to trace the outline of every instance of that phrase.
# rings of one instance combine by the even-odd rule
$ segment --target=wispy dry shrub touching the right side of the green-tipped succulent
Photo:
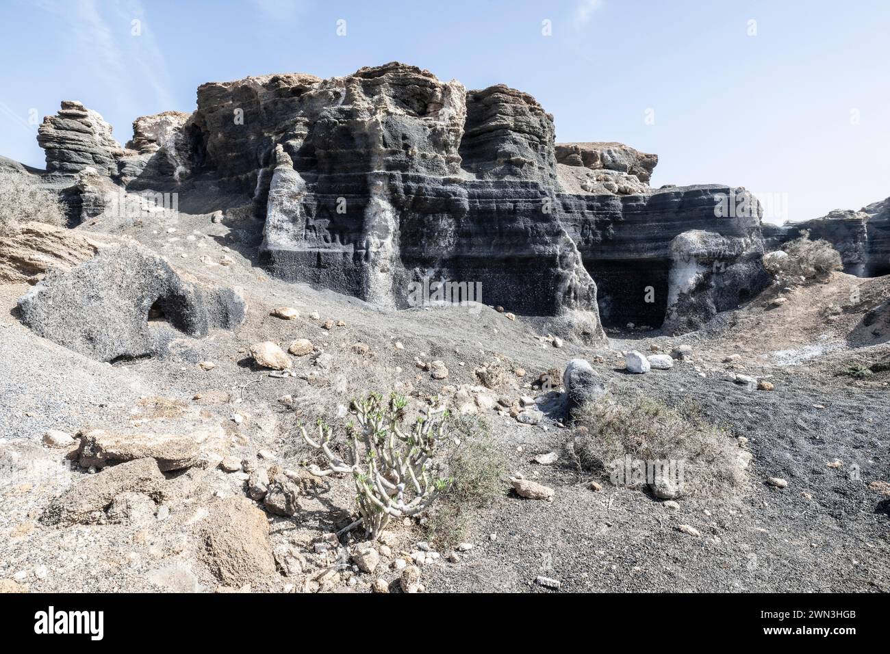
[[[427,518],[429,540],[455,545],[464,539],[473,510],[506,494],[506,458],[491,438],[491,427],[478,416],[457,416],[451,433],[460,445],[449,456],[451,485]]]

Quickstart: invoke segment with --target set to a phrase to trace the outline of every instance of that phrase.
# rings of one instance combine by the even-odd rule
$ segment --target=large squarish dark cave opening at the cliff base
[[[667,312],[669,259],[597,259],[584,262],[596,282],[596,300],[605,329],[658,329]]]

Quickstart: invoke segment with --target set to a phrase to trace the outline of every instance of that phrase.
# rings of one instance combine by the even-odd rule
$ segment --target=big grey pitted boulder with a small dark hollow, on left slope
[[[19,301],[37,335],[100,361],[162,353],[176,337],[236,327],[244,301],[202,287],[138,246],[102,250],[69,271],[54,271]]]

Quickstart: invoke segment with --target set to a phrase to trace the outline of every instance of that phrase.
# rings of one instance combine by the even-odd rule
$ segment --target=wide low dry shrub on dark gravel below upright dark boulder
[[[579,464],[609,479],[613,462],[682,461],[685,496],[719,497],[740,490],[746,474],[738,441],[709,424],[698,408],[670,408],[660,400],[607,396],[588,402],[576,416],[572,447]]]

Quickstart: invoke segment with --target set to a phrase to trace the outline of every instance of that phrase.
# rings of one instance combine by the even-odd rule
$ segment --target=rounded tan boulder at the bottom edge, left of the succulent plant
[[[247,497],[215,500],[208,511],[200,528],[202,558],[216,578],[239,586],[275,573],[269,523]]]

